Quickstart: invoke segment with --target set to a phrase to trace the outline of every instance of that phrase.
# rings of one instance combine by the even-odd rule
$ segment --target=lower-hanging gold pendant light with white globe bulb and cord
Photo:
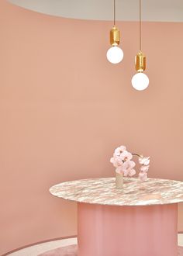
[[[135,88],[138,91],[143,91],[144,89],[147,88],[149,85],[149,78],[147,77],[146,74],[143,73],[146,69],[146,56],[142,52],[142,36],[141,36],[141,0],[139,2],[139,39],[140,39],[140,50],[138,54],[136,54],[136,59],[135,59],[135,67],[137,73],[133,75],[132,78],[132,85],[133,88]]]

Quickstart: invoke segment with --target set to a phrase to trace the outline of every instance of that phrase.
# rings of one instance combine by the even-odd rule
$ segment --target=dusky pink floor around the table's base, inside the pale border
[[[60,247],[52,251],[47,251],[38,256],[77,256],[77,245],[70,245],[65,247]],[[87,255],[86,255],[87,256]],[[115,255],[113,255],[115,256]],[[119,255],[116,255],[119,256]],[[162,253],[160,255],[154,256],[163,256]],[[183,256],[183,247],[178,246],[178,256]]]

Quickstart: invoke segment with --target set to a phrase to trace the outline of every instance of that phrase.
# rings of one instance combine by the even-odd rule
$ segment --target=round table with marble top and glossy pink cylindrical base
[[[78,256],[178,256],[183,182],[90,178],[63,182],[52,195],[78,202]]]

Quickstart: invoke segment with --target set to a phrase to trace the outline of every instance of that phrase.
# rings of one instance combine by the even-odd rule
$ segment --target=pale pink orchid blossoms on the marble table
[[[125,146],[120,146],[114,151],[110,162],[116,167],[116,173],[123,174],[125,177],[128,175],[132,177],[136,174],[136,170],[134,169],[136,163],[132,161],[133,155],[139,157],[139,163],[141,164],[139,172],[140,181],[147,180],[147,171],[150,168],[150,157],[130,153],[126,150]]]

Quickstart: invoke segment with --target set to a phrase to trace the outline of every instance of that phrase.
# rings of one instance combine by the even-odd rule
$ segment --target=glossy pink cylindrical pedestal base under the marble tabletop
[[[178,206],[78,202],[78,256],[178,256]]]

